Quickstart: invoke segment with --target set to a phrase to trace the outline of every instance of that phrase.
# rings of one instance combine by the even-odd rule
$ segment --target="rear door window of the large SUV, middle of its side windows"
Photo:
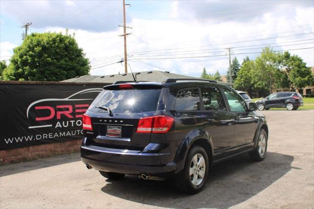
[[[218,88],[202,88],[201,91],[205,110],[227,110],[224,99]]]

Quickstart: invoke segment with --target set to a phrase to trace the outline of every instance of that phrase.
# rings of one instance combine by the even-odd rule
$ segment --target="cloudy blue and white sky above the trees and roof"
[[[162,70],[224,75],[232,58],[254,59],[265,46],[314,66],[314,0],[126,0],[128,59],[133,72]],[[124,72],[122,0],[0,0],[0,59],[29,32],[75,32],[91,75]]]

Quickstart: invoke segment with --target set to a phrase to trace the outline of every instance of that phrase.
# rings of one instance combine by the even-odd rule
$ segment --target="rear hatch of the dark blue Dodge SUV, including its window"
[[[105,86],[86,114],[92,129],[85,131],[88,144],[140,152],[151,133],[136,132],[140,118],[162,114],[167,89],[161,84],[119,84]],[[161,101],[161,102],[159,102]],[[159,112],[159,113],[158,113]]]

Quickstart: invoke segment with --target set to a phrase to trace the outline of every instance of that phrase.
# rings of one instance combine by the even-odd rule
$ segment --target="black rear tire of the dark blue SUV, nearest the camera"
[[[194,168],[193,157],[195,157],[195,156],[197,156],[198,162],[199,162],[199,159],[201,159],[200,156],[202,156],[205,160],[205,167],[203,167],[203,166],[199,167],[199,170],[202,170],[202,168],[204,169],[202,171],[202,172],[204,172],[204,178],[202,179],[202,181],[201,181],[201,175],[202,174],[201,173],[196,174],[197,171],[195,171],[195,169],[197,169],[197,168]],[[198,157],[200,157],[200,158],[198,158]],[[191,167],[191,165],[193,165],[193,166]],[[193,168],[194,168],[194,173],[192,175],[190,175],[190,171],[193,170]],[[177,176],[175,178],[175,184],[179,190],[181,190],[185,193],[196,194],[202,190],[204,183],[207,180],[208,170],[209,170],[209,158],[207,156],[206,151],[204,150],[203,147],[195,146],[187,154],[183,171],[180,173],[179,176]],[[200,178],[200,184],[198,184],[198,185],[194,185],[192,183],[192,181],[195,178],[195,175],[196,175],[196,182],[197,182],[198,178]]]

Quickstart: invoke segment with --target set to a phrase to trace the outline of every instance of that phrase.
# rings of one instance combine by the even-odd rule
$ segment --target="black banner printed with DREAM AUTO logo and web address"
[[[100,85],[0,84],[0,150],[80,139]]]

